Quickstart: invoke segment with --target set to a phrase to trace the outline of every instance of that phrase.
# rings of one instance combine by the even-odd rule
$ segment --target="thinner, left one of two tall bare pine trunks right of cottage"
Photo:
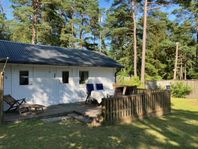
[[[135,6],[135,1],[132,0],[132,7],[133,7],[133,13],[132,13],[132,17],[133,17],[133,67],[134,67],[134,76],[137,77],[137,37],[136,37],[136,6]]]

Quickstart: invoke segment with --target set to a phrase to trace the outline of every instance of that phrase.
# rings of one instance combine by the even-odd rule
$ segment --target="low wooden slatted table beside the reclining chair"
[[[21,106],[19,106],[19,114],[23,114],[26,112],[32,112],[32,113],[40,113],[44,111],[44,107],[43,105],[39,105],[39,104],[22,104]]]

